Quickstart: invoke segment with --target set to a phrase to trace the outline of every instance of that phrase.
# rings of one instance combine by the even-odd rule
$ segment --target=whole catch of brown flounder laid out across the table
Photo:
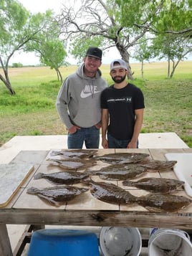
[[[175,179],[143,178],[138,181],[131,181],[138,176],[146,174],[147,171],[167,171],[173,168],[176,161],[154,161],[148,159],[146,153],[110,153],[102,156],[95,155],[97,150],[63,150],[52,151],[49,158],[51,164],[62,167],[64,171],[51,174],[39,173],[34,179],[47,179],[57,186],[37,189],[30,188],[29,194],[36,194],[41,199],[54,206],[59,206],[74,199],[75,196],[90,190],[92,196],[110,204],[139,204],[150,212],[176,212],[188,204],[191,199],[185,196],[171,194],[181,189],[184,182]],[[99,170],[87,169],[97,161],[110,163]],[[81,171],[78,171],[82,169]],[[100,176],[108,181],[123,181],[123,186],[135,186],[154,194],[145,196],[134,196],[127,189],[107,182],[95,182],[91,176]],[[90,186],[89,189],[80,188],[72,184],[82,183]]]

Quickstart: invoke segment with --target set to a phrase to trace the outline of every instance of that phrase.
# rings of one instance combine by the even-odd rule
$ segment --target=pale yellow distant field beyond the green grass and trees
[[[130,63],[131,69],[134,72],[134,78],[141,78],[141,65],[140,63]],[[154,80],[154,79],[165,79],[167,77],[167,62],[150,62],[144,64],[144,79]],[[66,77],[67,75],[75,72],[77,70],[77,65],[71,65],[69,67],[62,67],[61,69],[62,76]],[[103,77],[110,80],[109,72],[110,65],[102,65],[100,67]],[[192,61],[180,62],[176,68],[175,75],[173,78],[190,78],[192,70]],[[0,69],[1,72],[1,69]],[[33,84],[34,82],[44,82],[47,80],[57,80],[57,75],[54,70],[51,70],[49,67],[18,67],[10,68],[9,75],[11,80],[14,81],[15,85],[18,85],[18,82],[23,80],[28,85]],[[32,77],[32,80],[29,80],[29,77]],[[1,86],[1,82],[0,82]]]

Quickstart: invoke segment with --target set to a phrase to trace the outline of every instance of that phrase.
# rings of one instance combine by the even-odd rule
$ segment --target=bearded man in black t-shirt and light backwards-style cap
[[[128,67],[124,60],[112,61],[110,75],[115,84],[103,90],[101,95],[102,146],[138,148],[145,108],[143,93],[126,81]]]

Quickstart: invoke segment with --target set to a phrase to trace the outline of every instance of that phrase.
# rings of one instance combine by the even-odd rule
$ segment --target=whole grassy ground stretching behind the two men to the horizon
[[[144,80],[140,65],[133,64],[134,80],[143,90],[145,113],[142,133],[176,132],[192,147],[192,62],[181,62],[173,79],[166,79],[165,62],[147,63]],[[63,67],[62,76],[77,66]],[[109,65],[102,65],[102,76],[109,84]],[[0,70],[1,72],[1,70]],[[16,95],[9,95],[0,82],[0,145],[14,136],[67,133],[55,109],[60,83],[49,67],[21,67],[9,70]]]

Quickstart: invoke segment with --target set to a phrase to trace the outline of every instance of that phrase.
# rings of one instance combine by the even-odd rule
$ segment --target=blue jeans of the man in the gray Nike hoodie
[[[89,128],[80,128],[76,133],[68,133],[68,148],[80,149],[84,142],[86,148],[99,148],[100,130],[95,125]]]

